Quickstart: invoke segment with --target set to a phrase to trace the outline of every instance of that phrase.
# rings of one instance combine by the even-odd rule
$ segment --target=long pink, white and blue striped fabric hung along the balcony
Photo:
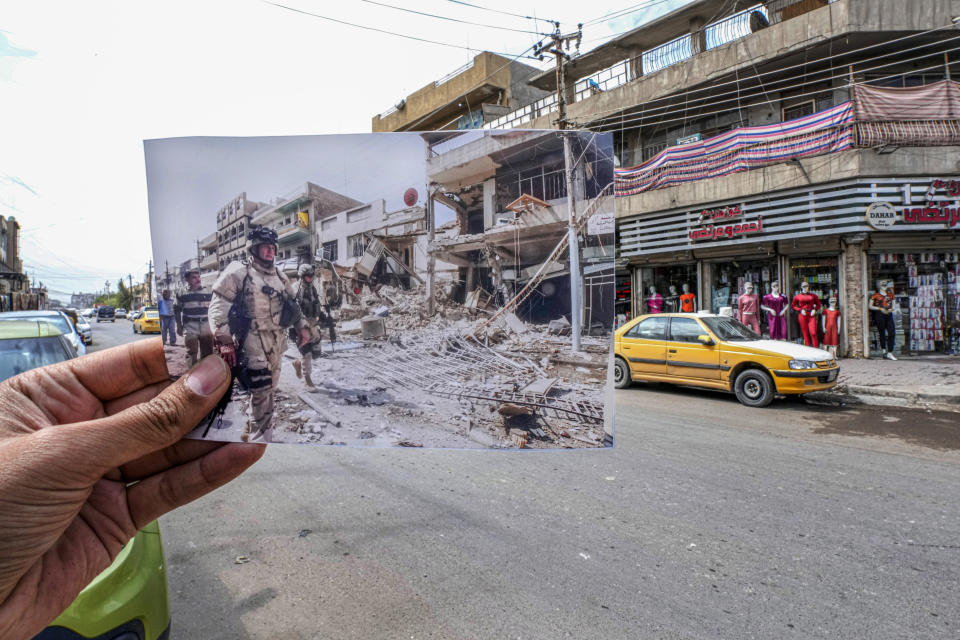
[[[845,102],[803,118],[741,127],[701,142],[671,147],[641,165],[617,169],[615,194],[629,196],[792,158],[850,149],[852,121],[853,103]]]

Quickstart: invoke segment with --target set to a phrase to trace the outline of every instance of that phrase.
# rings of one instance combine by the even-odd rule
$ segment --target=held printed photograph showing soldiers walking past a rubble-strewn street
[[[171,378],[233,383],[191,434],[459,449],[613,445],[613,143],[584,131],[144,142]]]

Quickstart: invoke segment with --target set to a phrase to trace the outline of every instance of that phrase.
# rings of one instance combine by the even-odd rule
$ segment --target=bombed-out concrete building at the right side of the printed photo
[[[571,132],[573,202],[577,217],[613,213],[611,136]],[[549,263],[536,296],[517,315],[547,322],[570,314],[569,262],[551,260],[570,220],[562,137],[553,131],[424,133],[427,179],[434,202],[451,209],[454,224],[437,230],[435,258],[459,270],[456,299],[471,304],[493,298],[503,304]],[[594,205],[598,205],[591,209]],[[612,255],[598,236],[584,235],[585,326],[607,318],[601,285],[612,295]],[[603,273],[606,270],[607,273]],[[591,276],[596,272],[598,278]],[[480,290],[479,294],[474,292]],[[596,295],[591,295],[595,293]],[[592,317],[590,314],[593,314]],[[606,313],[606,316],[604,315]],[[605,321],[606,322],[606,321]],[[606,327],[609,329],[609,326]]]

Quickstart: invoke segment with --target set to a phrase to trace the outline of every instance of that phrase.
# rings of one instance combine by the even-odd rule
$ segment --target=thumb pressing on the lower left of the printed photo
[[[213,410],[229,384],[227,365],[207,356],[152,400],[67,428],[89,464],[119,467],[180,440]]]

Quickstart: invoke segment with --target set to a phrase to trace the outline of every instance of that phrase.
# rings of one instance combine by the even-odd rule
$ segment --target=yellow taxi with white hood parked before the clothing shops
[[[840,367],[827,351],[765,340],[737,320],[708,313],[645,315],[614,333],[614,384],[672,382],[721,389],[749,407],[776,394],[823,391]]]

